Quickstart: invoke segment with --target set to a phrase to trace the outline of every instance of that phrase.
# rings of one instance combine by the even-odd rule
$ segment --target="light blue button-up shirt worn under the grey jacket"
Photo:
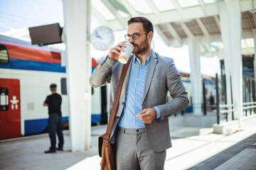
[[[121,119],[119,120],[119,127],[121,128],[145,128],[142,120],[137,118],[136,115],[142,111],[142,96],[151,53],[144,64],[141,64],[139,58],[136,56],[134,56],[132,60],[132,68],[129,75],[129,86],[124,103],[124,110]],[[159,108],[156,106],[154,108],[157,112],[157,118],[160,118]]]

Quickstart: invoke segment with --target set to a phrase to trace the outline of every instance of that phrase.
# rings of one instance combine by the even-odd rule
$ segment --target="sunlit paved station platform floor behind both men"
[[[91,149],[71,152],[69,131],[64,151],[44,154],[48,134],[0,141],[0,169],[100,169],[97,137],[107,126],[92,127]],[[256,123],[233,135],[216,135],[210,128],[170,128],[173,147],[166,151],[165,169],[256,169]]]

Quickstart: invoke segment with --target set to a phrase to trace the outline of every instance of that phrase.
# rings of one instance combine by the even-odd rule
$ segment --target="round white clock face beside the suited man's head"
[[[97,50],[109,50],[114,43],[114,33],[110,28],[100,26],[93,31],[90,40]]]

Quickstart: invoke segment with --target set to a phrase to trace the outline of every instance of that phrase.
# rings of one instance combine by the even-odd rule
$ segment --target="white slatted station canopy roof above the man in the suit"
[[[220,1],[223,0],[93,0],[92,14],[112,30],[125,30],[129,18],[144,16],[154,24],[166,45],[181,47],[187,38],[198,38],[203,42],[201,55],[212,57],[223,50]],[[255,53],[252,29],[256,28],[256,17],[252,9],[256,3],[252,1],[240,1],[242,55]]]

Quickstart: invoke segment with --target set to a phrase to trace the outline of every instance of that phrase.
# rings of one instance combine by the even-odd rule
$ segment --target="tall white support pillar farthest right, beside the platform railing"
[[[234,118],[242,128],[242,23],[240,1],[219,3],[221,36],[224,46],[225,74],[227,84],[227,101],[232,98],[235,106]],[[230,76],[231,75],[231,84]],[[231,85],[231,86],[230,86]]]

